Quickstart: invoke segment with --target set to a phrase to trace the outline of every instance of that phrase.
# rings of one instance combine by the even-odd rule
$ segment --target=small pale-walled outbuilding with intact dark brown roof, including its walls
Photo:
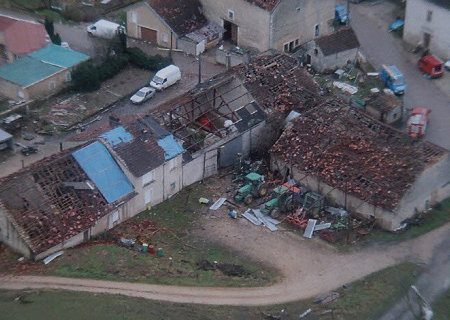
[[[310,41],[303,47],[303,62],[318,71],[324,71],[354,63],[360,44],[353,29],[344,28]]]

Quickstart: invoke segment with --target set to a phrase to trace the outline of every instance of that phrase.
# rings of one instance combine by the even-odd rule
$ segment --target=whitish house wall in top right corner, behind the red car
[[[428,11],[431,21],[427,21]],[[431,35],[430,50],[442,59],[450,59],[450,10],[426,0],[408,0],[405,14],[403,38],[417,46],[423,43],[424,33]]]

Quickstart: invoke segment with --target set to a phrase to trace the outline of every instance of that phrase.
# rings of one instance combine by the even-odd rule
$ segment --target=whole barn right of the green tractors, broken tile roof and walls
[[[270,153],[272,169],[389,230],[450,191],[447,150],[336,101],[295,119]]]

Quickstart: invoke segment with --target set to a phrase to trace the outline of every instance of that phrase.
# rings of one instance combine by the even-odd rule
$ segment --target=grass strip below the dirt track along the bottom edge
[[[418,270],[416,265],[410,263],[384,269],[348,285],[347,289],[339,289],[340,297],[324,305],[314,305],[313,299],[310,299],[266,307],[226,307],[66,291],[0,291],[0,310],[2,319],[8,320],[257,320],[270,319],[264,317],[264,314],[276,315],[281,310],[285,310],[283,320],[293,320],[298,319],[309,308],[313,312],[307,319],[377,319],[405,293],[405,288],[414,281],[413,273]],[[319,318],[326,310],[333,310],[333,318],[330,315]]]

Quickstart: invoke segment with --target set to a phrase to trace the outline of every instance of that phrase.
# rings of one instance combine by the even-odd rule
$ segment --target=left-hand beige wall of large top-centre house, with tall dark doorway
[[[323,0],[321,0],[323,1]],[[270,13],[243,0],[201,0],[206,18],[223,27],[223,21],[238,26],[238,46],[270,49]],[[234,12],[234,19],[228,18],[228,10]]]

